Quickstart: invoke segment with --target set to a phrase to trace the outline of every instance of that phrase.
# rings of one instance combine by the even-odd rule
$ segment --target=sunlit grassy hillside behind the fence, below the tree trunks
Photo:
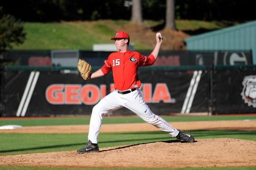
[[[163,21],[146,20],[145,27],[162,24]],[[203,22],[198,20],[177,20],[180,31],[214,30],[227,27],[222,22]],[[234,23],[235,24],[235,23]],[[132,27],[129,20],[98,20],[93,22],[60,22],[60,23],[24,23],[27,39],[22,45],[14,46],[15,50],[51,50],[80,49],[92,50],[93,44],[112,43],[110,37],[117,30]],[[137,50],[152,50],[151,45],[143,44],[141,37],[133,37]]]

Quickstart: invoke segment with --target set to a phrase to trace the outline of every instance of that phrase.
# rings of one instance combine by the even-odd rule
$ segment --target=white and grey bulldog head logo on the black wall
[[[245,76],[242,82],[244,88],[241,92],[242,99],[248,106],[256,108],[256,75]]]

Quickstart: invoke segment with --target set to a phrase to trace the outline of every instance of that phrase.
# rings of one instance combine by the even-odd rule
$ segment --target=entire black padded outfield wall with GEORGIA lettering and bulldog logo
[[[99,69],[94,67],[94,70]],[[156,114],[256,113],[255,66],[141,68],[145,101]],[[112,75],[83,80],[75,67],[5,67],[1,116],[90,114],[114,90]],[[114,114],[133,114],[119,109]]]

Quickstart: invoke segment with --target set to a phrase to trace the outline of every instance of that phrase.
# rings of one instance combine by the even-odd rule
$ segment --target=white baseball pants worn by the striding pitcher
[[[150,110],[141,95],[140,89],[137,88],[129,94],[118,94],[117,91],[113,91],[94,106],[93,112],[91,113],[88,140],[92,143],[98,143],[99,130],[102,125],[102,115],[122,107],[128,108],[145,122],[166,131],[172,137],[176,137],[179,133],[177,129],[173,128],[168,122],[163,120],[163,118],[157,116]]]

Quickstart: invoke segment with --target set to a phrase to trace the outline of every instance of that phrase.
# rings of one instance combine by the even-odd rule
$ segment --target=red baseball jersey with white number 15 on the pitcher
[[[103,74],[108,74],[112,70],[115,89],[124,91],[139,88],[141,82],[137,75],[138,68],[153,65],[155,60],[152,54],[146,57],[138,52],[115,52],[108,56],[100,70]]]

